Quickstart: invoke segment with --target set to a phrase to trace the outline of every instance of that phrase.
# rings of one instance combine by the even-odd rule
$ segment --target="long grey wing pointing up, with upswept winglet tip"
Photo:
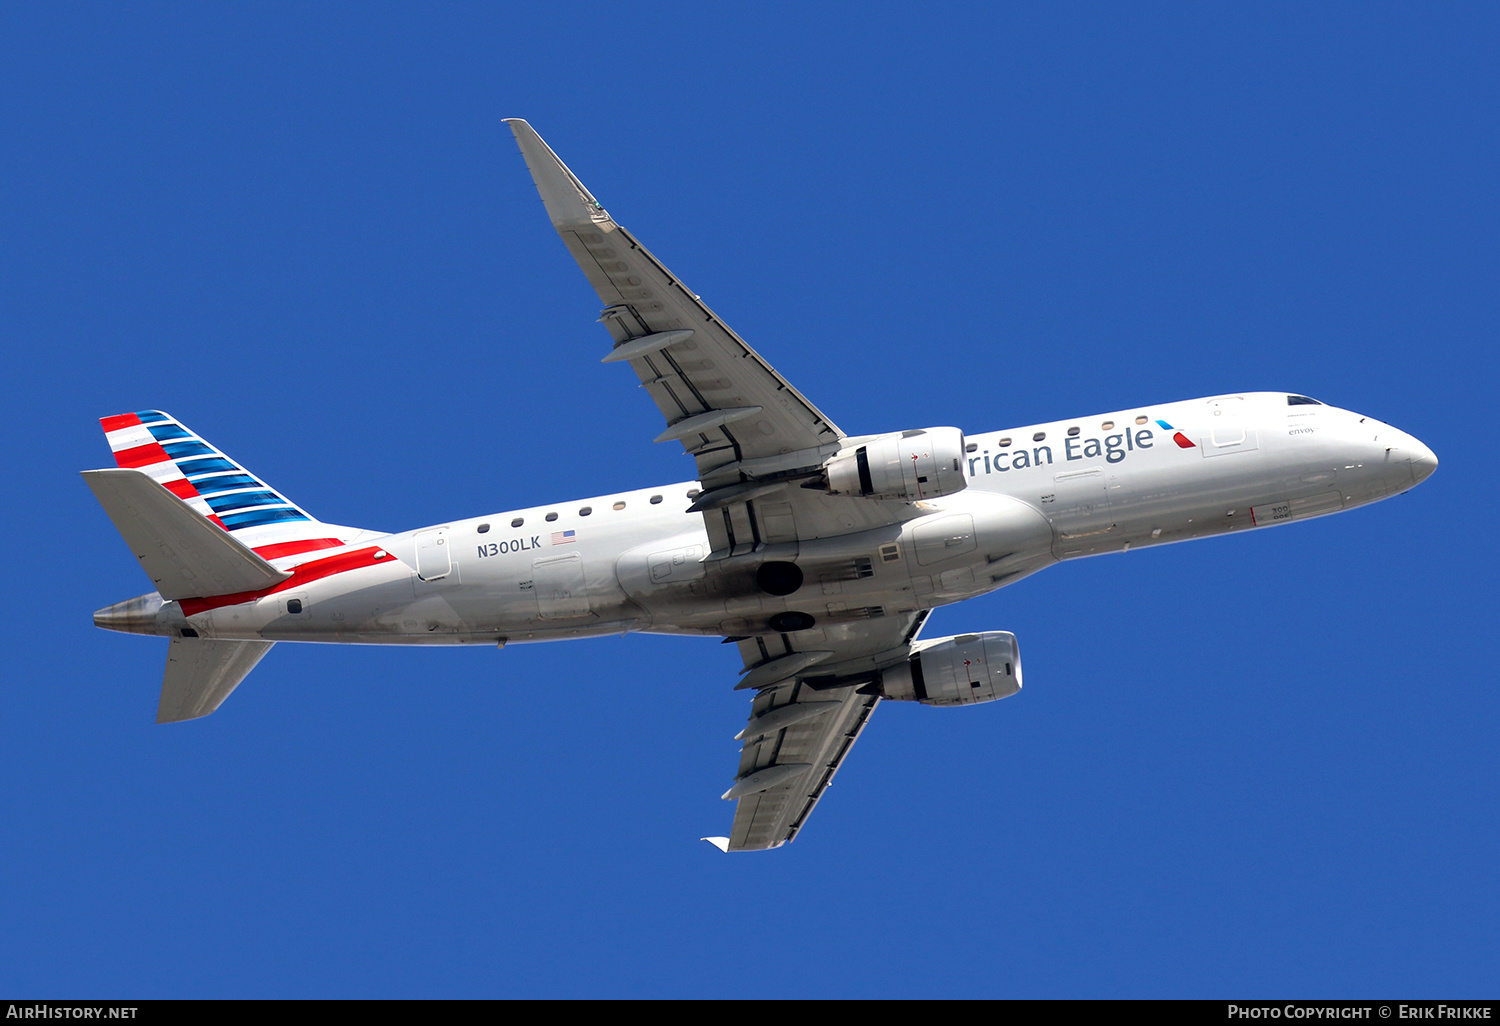
[[[796,488],[856,440],[828,420],[636,238],[519,118],[507,122],[552,225],[604,303],[615,339],[604,362],[627,362],[666,418],[657,441],[698,462],[702,512],[722,558],[806,538],[884,526],[915,513],[902,502]],[[734,230],[726,226],[726,232]]]

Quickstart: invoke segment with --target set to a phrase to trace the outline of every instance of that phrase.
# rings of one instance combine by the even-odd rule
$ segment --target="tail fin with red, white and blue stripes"
[[[266,560],[332,549],[366,534],[320,522],[159,410],[104,417],[116,464],[140,470]]]

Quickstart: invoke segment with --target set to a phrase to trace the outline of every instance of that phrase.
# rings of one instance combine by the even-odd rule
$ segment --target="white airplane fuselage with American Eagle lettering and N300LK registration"
[[[168,602],[150,624],[100,626],[417,645],[756,634],[784,610],[828,624],[930,609],[1062,560],[1335,513],[1404,492],[1437,465],[1401,430],[1288,405],[1286,393],[981,432],[968,435],[968,450],[966,489],[870,531],[718,558],[704,514],[686,512],[698,484],[684,482],[378,537],[346,546],[374,549],[375,562],[327,576],[298,567],[328,554],[294,556],[276,564],[292,579],[266,594]],[[786,596],[759,586],[756,568],[771,560],[796,564],[801,586]]]

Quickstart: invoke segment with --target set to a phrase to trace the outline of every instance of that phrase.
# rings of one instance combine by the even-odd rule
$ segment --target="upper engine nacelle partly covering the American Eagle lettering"
[[[830,495],[916,501],[969,486],[963,476],[963,432],[927,428],[880,435],[824,465]]]

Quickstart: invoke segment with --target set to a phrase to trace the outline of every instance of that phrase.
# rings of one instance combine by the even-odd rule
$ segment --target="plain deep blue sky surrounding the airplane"
[[[0,993],[1494,996],[1497,28],[6,4]],[[154,726],[165,642],[90,624],[146,590],[100,416],[382,530],[692,476],[512,116],[844,429],[1284,388],[1442,468],[939,610],[1026,690],[882,706],[765,855],[696,840],[747,710],[714,642],[280,645]]]

